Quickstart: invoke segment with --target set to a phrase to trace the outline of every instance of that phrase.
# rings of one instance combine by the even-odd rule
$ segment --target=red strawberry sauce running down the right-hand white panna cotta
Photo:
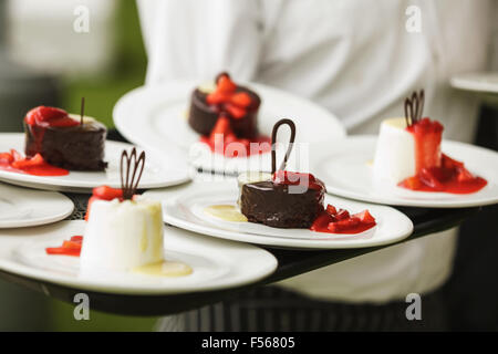
[[[415,139],[416,175],[402,180],[398,186],[419,191],[471,194],[483,189],[487,180],[474,176],[464,163],[440,152],[443,125],[423,118],[406,128]]]

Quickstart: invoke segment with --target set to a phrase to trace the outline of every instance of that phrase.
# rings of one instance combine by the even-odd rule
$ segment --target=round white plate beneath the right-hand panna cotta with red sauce
[[[442,149],[464,162],[473,173],[488,180],[481,190],[469,195],[413,191],[390,181],[375,181],[372,163],[375,136],[353,136],[330,146],[311,147],[311,171],[325,183],[330,194],[393,206],[426,208],[464,208],[498,202],[498,154],[464,143],[444,140]]]

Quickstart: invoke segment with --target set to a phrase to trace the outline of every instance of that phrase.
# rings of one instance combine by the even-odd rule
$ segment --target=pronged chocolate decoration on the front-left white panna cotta
[[[123,150],[121,154],[121,189],[123,190],[123,199],[132,199],[138,187],[138,183],[144,171],[145,152],[136,157],[136,148],[132,149],[132,154]],[[138,173],[138,174],[137,174]]]

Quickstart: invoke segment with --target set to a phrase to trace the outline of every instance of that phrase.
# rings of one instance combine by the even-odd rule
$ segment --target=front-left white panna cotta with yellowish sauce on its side
[[[86,225],[81,269],[129,271],[162,262],[163,214],[160,202],[95,200]]]

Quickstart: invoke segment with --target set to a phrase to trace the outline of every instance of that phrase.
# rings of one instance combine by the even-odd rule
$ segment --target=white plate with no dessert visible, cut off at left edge
[[[59,192],[0,183],[0,229],[55,222],[70,216],[73,209],[71,199]]]

